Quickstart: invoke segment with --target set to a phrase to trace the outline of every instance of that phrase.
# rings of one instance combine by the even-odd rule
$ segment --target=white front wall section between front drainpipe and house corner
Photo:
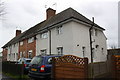
[[[57,54],[57,47],[63,47],[64,54],[73,53],[72,22],[62,25],[62,33],[57,34],[56,28],[51,30],[52,53]]]

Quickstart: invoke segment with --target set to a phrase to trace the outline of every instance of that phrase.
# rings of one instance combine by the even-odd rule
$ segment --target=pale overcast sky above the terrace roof
[[[6,14],[0,20],[0,47],[13,37],[15,30],[22,32],[46,19],[46,9],[57,13],[72,7],[79,13],[105,28],[107,46],[118,45],[118,1],[119,0],[1,0]],[[56,5],[53,5],[56,4]],[[45,5],[46,8],[45,8]],[[0,52],[2,49],[0,49]]]

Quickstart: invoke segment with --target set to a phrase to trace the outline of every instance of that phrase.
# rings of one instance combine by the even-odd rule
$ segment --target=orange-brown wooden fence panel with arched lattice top
[[[88,58],[65,55],[53,58],[53,78],[87,78]]]

